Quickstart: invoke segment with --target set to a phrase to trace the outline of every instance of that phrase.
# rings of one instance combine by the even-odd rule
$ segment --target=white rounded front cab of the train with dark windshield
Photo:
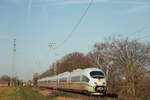
[[[101,69],[89,68],[85,70],[85,74],[89,79],[88,91],[92,94],[106,94],[107,82],[106,75]]]

